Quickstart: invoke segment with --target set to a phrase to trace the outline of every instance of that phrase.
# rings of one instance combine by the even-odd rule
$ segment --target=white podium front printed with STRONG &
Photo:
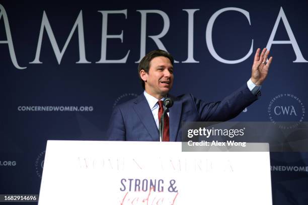
[[[269,152],[181,146],[48,141],[38,204],[272,204]]]

